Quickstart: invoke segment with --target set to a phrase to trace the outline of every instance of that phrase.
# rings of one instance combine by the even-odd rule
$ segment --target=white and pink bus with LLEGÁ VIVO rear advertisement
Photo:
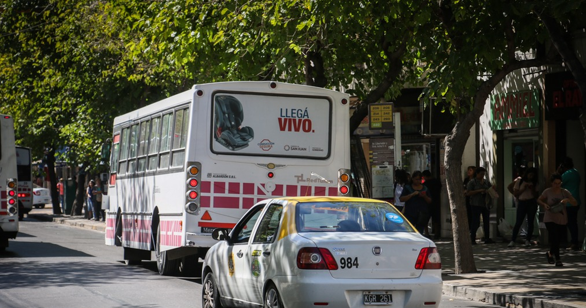
[[[107,245],[196,273],[261,199],[349,194],[349,96],[278,82],[197,84],[114,119]]]

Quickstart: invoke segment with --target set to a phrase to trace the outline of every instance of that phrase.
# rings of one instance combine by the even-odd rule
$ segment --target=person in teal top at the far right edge
[[[568,189],[574,196],[578,205],[575,207],[568,206],[568,231],[570,231],[570,246],[566,250],[579,251],[578,246],[578,210],[580,209],[580,173],[574,168],[574,160],[571,157],[565,157],[557,173],[561,174],[561,188]]]

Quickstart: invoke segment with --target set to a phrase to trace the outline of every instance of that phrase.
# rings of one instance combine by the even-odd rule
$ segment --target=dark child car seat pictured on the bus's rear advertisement
[[[214,138],[217,142],[237,151],[248,146],[254,138],[254,130],[248,126],[241,126],[244,120],[242,103],[231,95],[216,95],[214,97],[216,114],[214,117]]]

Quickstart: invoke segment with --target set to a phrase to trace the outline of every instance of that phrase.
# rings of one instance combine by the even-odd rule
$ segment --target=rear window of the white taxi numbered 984
[[[415,232],[384,202],[302,202],[295,215],[297,232]]]

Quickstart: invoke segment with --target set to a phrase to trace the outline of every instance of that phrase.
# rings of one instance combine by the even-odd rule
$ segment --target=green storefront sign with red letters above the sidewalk
[[[490,96],[490,128],[539,127],[541,94],[539,90],[499,93]]]

